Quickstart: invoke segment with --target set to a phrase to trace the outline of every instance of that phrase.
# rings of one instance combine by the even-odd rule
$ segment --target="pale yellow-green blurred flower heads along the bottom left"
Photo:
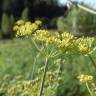
[[[0,82],[0,94],[4,96],[38,96],[41,84],[41,71],[43,70],[40,70],[32,80],[26,80],[22,76],[13,78],[8,75],[2,77],[3,82]],[[44,96],[55,94],[59,79],[57,74],[58,72],[56,71],[48,71],[44,84]]]

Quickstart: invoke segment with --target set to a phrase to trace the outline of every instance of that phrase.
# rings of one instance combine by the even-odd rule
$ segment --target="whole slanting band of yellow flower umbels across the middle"
[[[93,46],[95,38],[81,37],[77,38],[68,32],[50,32],[40,29],[42,22],[37,20],[34,23],[24,22],[19,20],[14,26],[16,36],[31,36],[35,40],[45,42],[45,44],[55,44],[60,50],[65,53],[82,53],[84,55],[91,54],[96,48]]]

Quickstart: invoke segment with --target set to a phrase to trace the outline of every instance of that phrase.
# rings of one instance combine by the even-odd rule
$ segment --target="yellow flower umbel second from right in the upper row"
[[[74,43],[75,40],[77,39],[77,37],[75,37],[74,35],[68,33],[68,32],[64,32],[61,34],[61,36],[59,36],[59,42],[58,42],[58,47],[66,53],[69,52],[75,52],[75,47]]]

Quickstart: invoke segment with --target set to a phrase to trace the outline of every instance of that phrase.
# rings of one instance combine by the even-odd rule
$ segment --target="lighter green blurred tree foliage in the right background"
[[[73,7],[68,12],[68,16],[60,17],[57,20],[58,30],[67,30],[73,34],[90,35],[96,31],[96,15],[90,14],[77,7]],[[61,26],[60,26],[61,25]],[[60,28],[60,27],[62,28]]]

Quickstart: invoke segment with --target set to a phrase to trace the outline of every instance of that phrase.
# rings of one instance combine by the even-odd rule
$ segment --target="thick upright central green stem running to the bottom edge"
[[[43,94],[43,88],[44,88],[44,83],[45,83],[45,77],[46,77],[46,73],[47,73],[47,65],[48,65],[48,58],[46,58],[46,60],[45,60],[44,74],[43,74],[43,77],[42,77],[41,86],[40,86],[40,93],[39,93],[38,96],[42,96],[42,94]]]

